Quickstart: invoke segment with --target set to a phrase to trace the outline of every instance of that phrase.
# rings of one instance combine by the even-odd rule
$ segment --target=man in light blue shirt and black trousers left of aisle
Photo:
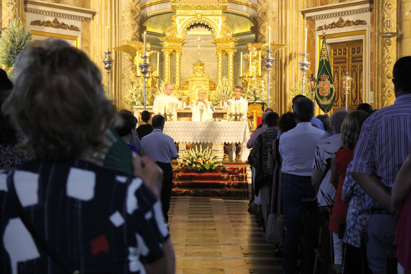
[[[171,187],[173,184],[173,169],[171,161],[178,158],[178,152],[174,146],[174,140],[163,133],[164,117],[155,115],[152,119],[153,131],[141,139],[143,155],[155,161],[163,170],[163,183],[161,190],[161,202],[166,223],[169,221],[169,208],[171,200]]]

